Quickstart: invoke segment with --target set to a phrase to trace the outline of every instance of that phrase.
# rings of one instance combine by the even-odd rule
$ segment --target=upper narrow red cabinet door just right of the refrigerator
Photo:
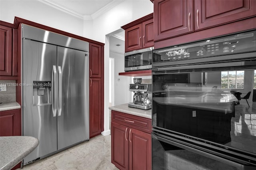
[[[102,46],[90,43],[89,47],[90,77],[101,77],[102,69]]]

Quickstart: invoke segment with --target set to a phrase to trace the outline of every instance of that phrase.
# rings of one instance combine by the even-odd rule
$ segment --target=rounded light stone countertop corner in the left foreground
[[[37,138],[31,136],[0,137],[0,170],[10,170],[39,144]]]

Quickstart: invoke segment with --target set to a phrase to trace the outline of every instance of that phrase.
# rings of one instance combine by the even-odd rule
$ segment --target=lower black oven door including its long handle
[[[203,148],[174,141],[152,132],[153,170],[254,170],[256,166],[242,160],[218,157]]]

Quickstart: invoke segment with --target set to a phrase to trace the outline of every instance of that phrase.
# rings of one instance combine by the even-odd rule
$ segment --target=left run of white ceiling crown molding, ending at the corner
[[[80,13],[74,11],[74,10],[69,9],[66,6],[58,4],[58,3],[56,3],[52,0],[38,0],[38,1],[44,3],[48,6],[51,6],[55,9],[57,9],[57,10],[60,10],[62,12],[66,12],[67,14],[70,14],[70,15],[75,16],[77,18],[84,19],[84,16],[82,14],[80,14]]]

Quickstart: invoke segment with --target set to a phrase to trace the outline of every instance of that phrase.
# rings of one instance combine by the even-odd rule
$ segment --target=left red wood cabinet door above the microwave
[[[125,52],[142,48],[142,24],[125,30]]]

